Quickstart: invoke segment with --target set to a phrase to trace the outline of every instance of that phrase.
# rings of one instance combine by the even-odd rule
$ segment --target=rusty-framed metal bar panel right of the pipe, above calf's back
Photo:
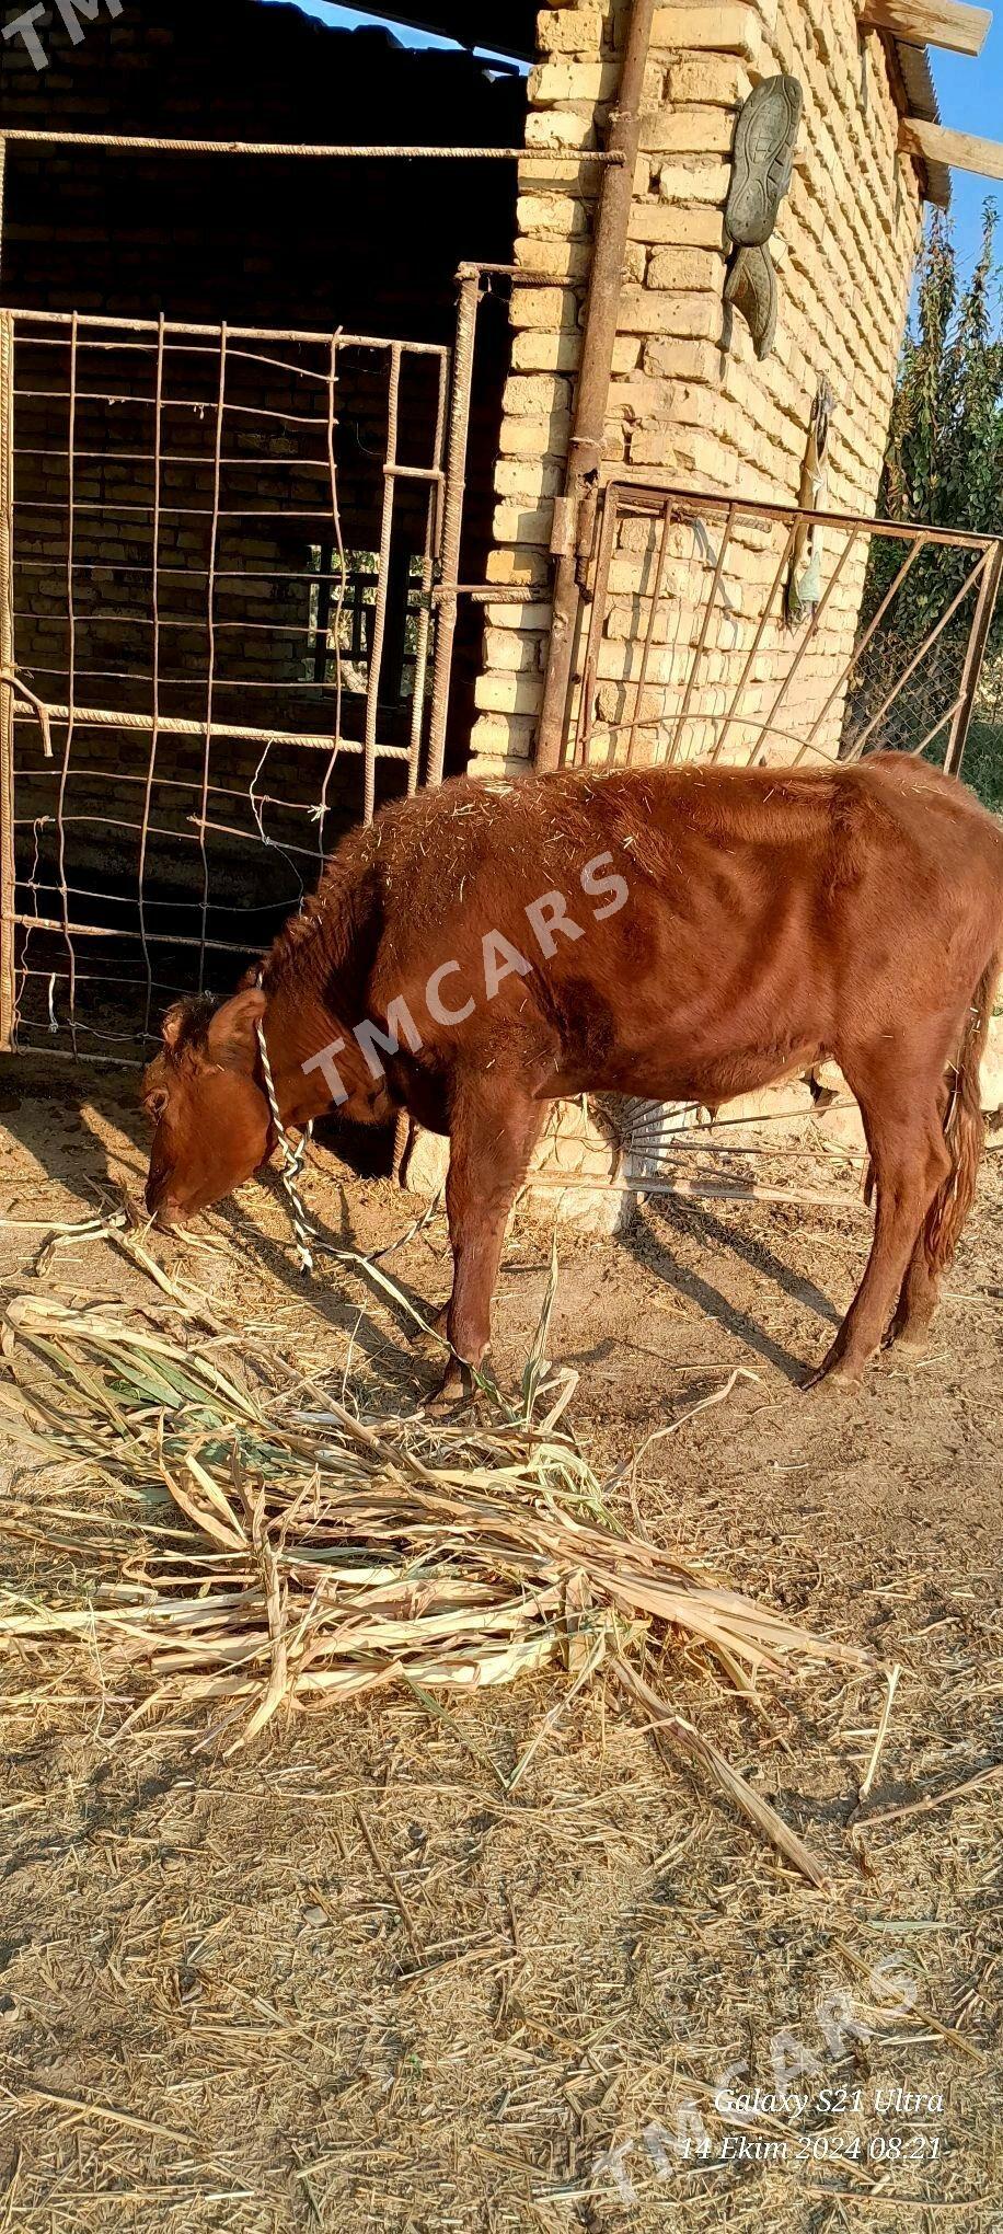
[[[1001,545],[610,485],[572,708],[579,760],[956,762]]]

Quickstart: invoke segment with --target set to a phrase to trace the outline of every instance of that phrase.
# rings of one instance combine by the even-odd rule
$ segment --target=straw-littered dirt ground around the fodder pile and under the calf
[[[54,1070],[2,1070],[4,1298],[31,1285],[49,1220],[143,1175],[132,1081]],[[757,1171],[780,1173],[820,1166]],[[319,1148],[306,1191],[364,1249],[413,1215]],[[362,1403],[420,1401],[429,1367],[362,1278],[326,1267],[304,1287],[273,1182],[199,1233],[156,1240],[161,1262],[248,1323],[286,1314],[304,1361],[346,1372]],[[199,1749],[199,1716],[130,1722],[87,1653],[78,1691],[54,1682],[42,1702],[11,1660],[0,2234],[1003,2230],[1003,1157],[929,1358],[804,1396],[867,1233],[847,1209],[672,1195],[628,1242],[561,1229],[550,1345],[581,1372],[570,1416],[603,1474],[730,1367],[755,1372],[641,1452],[621,1519],[900,1664],[860,1803],[882,1671],[766,1684],[757,1713],[699,1653],[666,1655],[663,1689],[824,1856],[831,1890],[666,1765],[603,1680],[507,1794],[567,1678],[442,1713],[402,1696],[297,1713],[226,1758]],[[500,1385],[547,1249],[516,1218]],[[442,1220],[393,1273],[422,1307],[445,1298]],[[42,1282],[150,1302],[105,1242],[60,1251]],[[4,1595],[45,1597],[45,1521],[85,1597],[83,1477],[7,1457],[0,1495],[29,1492],[38,1535],[2,1530]]]

